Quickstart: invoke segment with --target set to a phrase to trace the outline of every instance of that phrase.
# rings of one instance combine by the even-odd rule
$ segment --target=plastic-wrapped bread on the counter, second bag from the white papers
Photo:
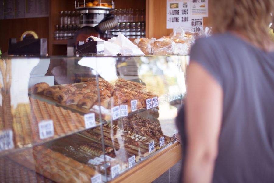
[[[176,43],[170,38],[160,38],[152,44],[151,53],[155,55],[173,54]]]

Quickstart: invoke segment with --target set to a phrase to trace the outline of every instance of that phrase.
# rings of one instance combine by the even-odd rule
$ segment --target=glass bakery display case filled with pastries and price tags
[[[181,159],[188,55],[2,57],[0,182],[151,182]]]

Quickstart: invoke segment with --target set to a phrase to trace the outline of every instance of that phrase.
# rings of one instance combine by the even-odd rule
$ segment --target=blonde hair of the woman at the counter
[[[214,33],[237,31],[268,49],[274,0],[209,0],[209,9]]]

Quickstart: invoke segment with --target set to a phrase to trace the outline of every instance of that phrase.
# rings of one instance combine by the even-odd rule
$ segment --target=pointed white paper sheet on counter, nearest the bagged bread
[[[117,39],[112,43],[121,47],[119,52],[121,55],[145,55],[138,46],[134,45],[128,38],[121,34],[121,32],[118,33]]]

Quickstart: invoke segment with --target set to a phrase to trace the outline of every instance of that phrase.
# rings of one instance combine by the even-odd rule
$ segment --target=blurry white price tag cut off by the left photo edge
[[[3,130],[0,132],[0,151],[14,148],[12,130]]]

